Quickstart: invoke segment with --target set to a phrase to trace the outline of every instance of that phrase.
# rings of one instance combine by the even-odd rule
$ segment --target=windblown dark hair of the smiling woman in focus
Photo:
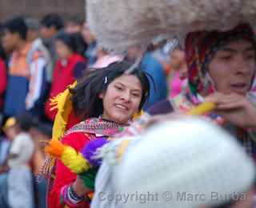
[[[133,67],[127,61],[114,62],[106,68],[87,70],[74,89],[70,89],[73,94],[72,103],[74,112],[82,119],[98,117],[103,112],[102,99],[99,98],[101,92],[106,91],[108,85],[117,77],[122,76],[127,69]],[[146,73],[138,67],[132,70],[130,74],[138,77],[142,84],[142,100],[139,109],[142,109],[146,98],[150,92],[150,82]]]

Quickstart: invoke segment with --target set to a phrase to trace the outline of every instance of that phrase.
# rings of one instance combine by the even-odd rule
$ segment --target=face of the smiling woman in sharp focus
[[[138,112],[142,100],[142,84],[138,77],[124,74],[115,78],[99,97],[102,98],[104,108],[102,118],[127,124],[134,113]]]

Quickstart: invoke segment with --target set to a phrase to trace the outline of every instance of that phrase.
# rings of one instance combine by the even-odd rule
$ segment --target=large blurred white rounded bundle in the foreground
[[[122,208],[191,208],[238,200],[238,193],[250,190],[255,169],[221,128],[204,120],[174,120],[127,149],[112,179],[116,193],[130,197]]]

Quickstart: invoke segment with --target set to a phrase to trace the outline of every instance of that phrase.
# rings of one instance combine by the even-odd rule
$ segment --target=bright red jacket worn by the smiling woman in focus
[[[62,143],[74,147],[76,151],[82,151],[82,148],[89,143],[90,139],[84,133],[75,132],[64,136]],[[54,185],[48,195],[48,207],[49,208],[63,208],[61,204],[60,191],[63,186],[66,186],[75,181],[77,175],[70,172],[70,170],[63,165],[62,162],[58,161],[56,164],[55,171],[56,178],[54,179]],[[89,208],[89,202],[83,202],[78,208]]]

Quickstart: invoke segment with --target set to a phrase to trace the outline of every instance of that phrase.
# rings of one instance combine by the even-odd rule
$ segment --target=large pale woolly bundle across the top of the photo
[[[87,20],[109,49],[147,45],[159,34],[184,37],[201,29],[231,29],[256,19],[255,0],[87,0]]]

